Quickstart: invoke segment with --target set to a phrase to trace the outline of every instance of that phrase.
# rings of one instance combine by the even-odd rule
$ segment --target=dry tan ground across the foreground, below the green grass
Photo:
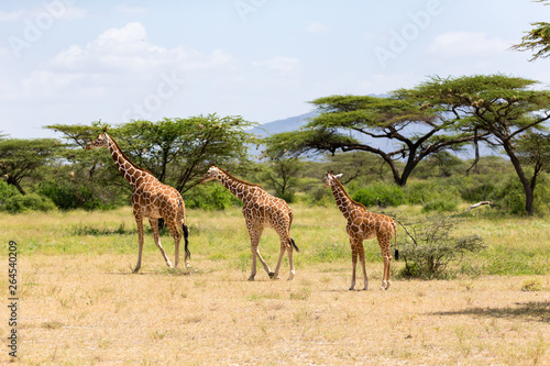
[[[223,260],[195,258],[189,273],[172,273],[158,253],[146,253],[142,273],[132,275],[134,260],[22,258],[19,361],[550,365],[550,276],[394,280],[389,291],[381,291],[382,264],[372,264],[369,290],[349,291],[351,264],[297,268],[293,281],[286,280],[287,266],[278,280],[260,267],[251,282],[248,273]],[[521,290],[530,280],[539,288]],[[6,350],[3,363],[11,358]]]

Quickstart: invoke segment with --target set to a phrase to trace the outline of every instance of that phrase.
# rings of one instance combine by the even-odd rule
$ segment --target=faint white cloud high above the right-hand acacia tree
[[[487,37],[484,32],[448,32],[438,35],[428,51],[446,57],[482,56],[505,52],[509,46],[499,37]]]

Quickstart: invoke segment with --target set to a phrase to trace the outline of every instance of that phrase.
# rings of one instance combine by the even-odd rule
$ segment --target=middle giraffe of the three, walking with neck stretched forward
[[[293,210],[288,207],[285,200],[273,197],[262,187],[240,180],[212,164],[200,184],[213,179],[220,180],[220,182],[229,189],[231,193],[244,203],[242,213],[246,222],[246,229],[249,230],[252,251],[252,273],[249,280],[253,281],[254,276],[256,275],[256,257],[262,263],[262,266],[270,278],[277,279],[285,251],[288,252],[288,263],[290,266],[288,280],[292,280],[295,275],[293,247],[296,252],[299,252],[289,233],[290,225],[293,223]],[[280,254],[275,271],[271,271],[270,266],[267,266],[264,258],[262,258],[262,255],[260,254],[258,243],[264,228],[273,228],[280,237]]]

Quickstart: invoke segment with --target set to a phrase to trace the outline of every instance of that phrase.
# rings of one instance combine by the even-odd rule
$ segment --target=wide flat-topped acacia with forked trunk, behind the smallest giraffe
[[[415,167],[427,156],[459,149],[483,138],[468,126],[458,125],[454,117],[442,113],[439,107],[410,98],[409,90],[405,89],[394,91],[389,98],[332,96],[311,103],[320,113],[302,131],[265,138],[268,151],[369,152],[385,162],[398,186],[405,186]],[[402,160],[404,164],[399,164]]]

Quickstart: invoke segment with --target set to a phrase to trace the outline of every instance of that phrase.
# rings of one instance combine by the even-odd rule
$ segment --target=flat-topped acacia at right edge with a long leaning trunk
[[[531,90],[535,80],[505,75],[458,78],[431,77],[411,97],[444,109],[459,125],[487,134],[487,141],[504,148],[524,186],[526,211],[532,214],[534,185],[516,151],[518,138],[541,127],[550,119],[550,90]]]

